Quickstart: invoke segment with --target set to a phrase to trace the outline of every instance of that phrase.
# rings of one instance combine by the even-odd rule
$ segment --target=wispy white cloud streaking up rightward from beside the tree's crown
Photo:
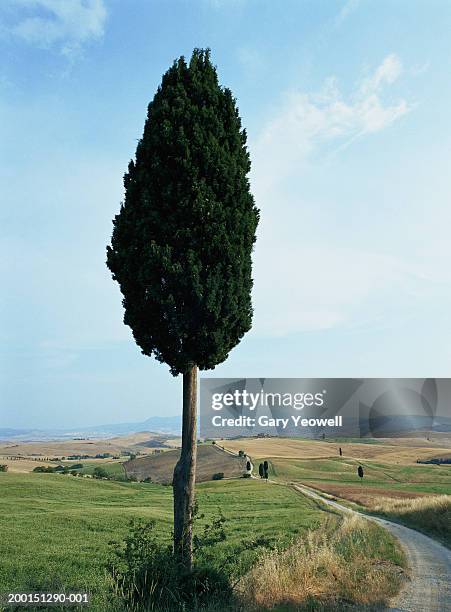
[[[335,77],[319,93],[288,92],[252,146],[257,189],[265,192],[273,181],[299,171],[313,154],[327,152],[331,145],[346,147],[405,115],[411,109],[405,99],[386,101],[384,95],[401,74],[401,61],[391,54],[347,97]]]

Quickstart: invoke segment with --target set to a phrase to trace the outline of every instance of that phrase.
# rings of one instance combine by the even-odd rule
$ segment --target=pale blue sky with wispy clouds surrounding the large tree
[[[162,74],[210,47],[261,209],[218,377],[451,372],[451,3],[2,0],[0,427],[181,411],[105,265]]]

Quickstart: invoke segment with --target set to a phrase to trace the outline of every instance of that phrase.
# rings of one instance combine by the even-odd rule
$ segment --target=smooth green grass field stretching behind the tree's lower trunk
[[[125,535],[131,518],[155,519],[170,538],[171,487],[13,473],[0,474],[0,486],[0,593],[88,590],[91,609],[111,609],[108,543]],[[322,520],[313,501],[262,481],[209,482],[197,491],[207,519],[222,509],[228,537],[221,546],[230,550],[259,537],[288,545]],[[251,562],[258,549],[249,554]]]

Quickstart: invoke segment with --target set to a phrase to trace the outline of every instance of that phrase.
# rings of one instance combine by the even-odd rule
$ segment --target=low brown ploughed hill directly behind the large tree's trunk
[[[124,463],[128,476],[138,480],[151,478],[153,482],[170,484],[179,450],[164,451],[158,455],[137,457]],[[239,478],[246,471],[246,459],[231,455],[217,446],[201,445],[197,449],[196,481],[212,480],[213,474],[224,472],[225,478]]]

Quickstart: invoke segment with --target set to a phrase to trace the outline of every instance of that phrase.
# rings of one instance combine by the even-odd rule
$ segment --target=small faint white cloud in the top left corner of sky
[[[104,33],[103,0],[15,0],[13,6],[21,17],[9,27],[11,35],[42,48],[59,46],[67,56]]]

